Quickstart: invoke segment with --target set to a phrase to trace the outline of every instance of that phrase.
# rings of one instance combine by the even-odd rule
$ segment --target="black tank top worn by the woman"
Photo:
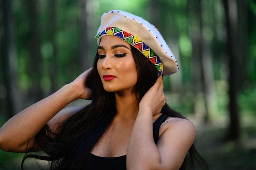
[[[154,142],[157,143],[159,139],[159,129],[162,123],[169,118],[169,115],[162,114],[153,123],[153,138]],[[85,169],[102,170],[123,170],[126,169],[126,155],[118,157],[101,157],[90,153],[90,161],[88,167]]]

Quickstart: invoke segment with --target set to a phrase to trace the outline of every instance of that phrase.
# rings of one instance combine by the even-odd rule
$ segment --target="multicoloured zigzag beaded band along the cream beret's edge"
[[[163,65],[162,65],[162,62],[160,61],[159,57],[156,55],[156,53],[151,48],[149,48],[138,37],[134,36],[131,33],[127,33],[117,27],[107,27],[107,28],[103,29],[100,33],[98,33],[95,38],[99,38],[103,34],[117,36],[117,37],[123,39],[124,41],[132,44],[134,47],[136,47],[138,50],[140,50],[154,64],[159,75],[162,74]]]

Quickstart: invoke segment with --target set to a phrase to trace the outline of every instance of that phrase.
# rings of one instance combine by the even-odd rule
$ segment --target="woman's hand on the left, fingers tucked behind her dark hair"
[[[92,90],[88,87],[93,67],[84,71],[70,84],[77,92],[77,99],[91,99]]]

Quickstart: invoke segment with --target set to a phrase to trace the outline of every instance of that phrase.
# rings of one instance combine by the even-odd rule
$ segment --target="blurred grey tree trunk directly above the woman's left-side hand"
[[[88,36],[87,36],[87,17],[88,13],[86,10],[87,0],[78,0],[79,5],[79,26],[80,26],[80,71],[84,71],[90,68],[90,59],[88,53]]]

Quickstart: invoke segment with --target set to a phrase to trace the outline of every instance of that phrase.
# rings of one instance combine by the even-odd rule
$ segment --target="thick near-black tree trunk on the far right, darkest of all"
[[[227,31],[227,54],[229,59],[229,109],[230,109],[230,127],[228,138],[240,138],[239,107],[237,103],[237,94],[239,89],[239,79],[242,71],[239,61],[238,46],[238,15],[236,1],[223,0],[226,31]]]

